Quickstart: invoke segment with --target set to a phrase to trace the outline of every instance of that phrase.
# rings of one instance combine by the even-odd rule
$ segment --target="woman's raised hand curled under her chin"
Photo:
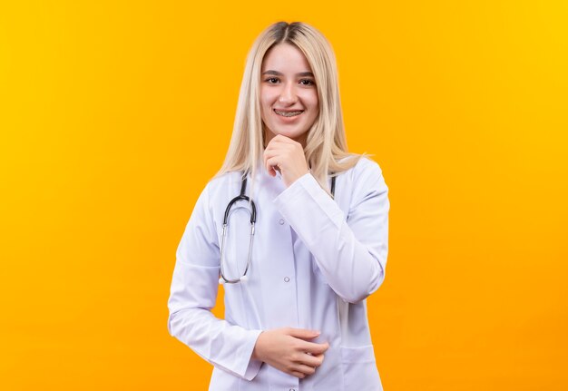
[[[273,137],[266,146],[264,165],[272,177],[278,170],[287,187],[309,172],[302,144],[281,134]]]

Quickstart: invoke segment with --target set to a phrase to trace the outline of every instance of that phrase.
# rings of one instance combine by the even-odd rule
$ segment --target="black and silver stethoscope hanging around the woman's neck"
[[[252,239],[254,239],[254,225],[257,222],[257,207],[254,204],[254,200],[251,200],[250,197],[245,195],[247,191],[247,175],[248,173],[245,172],[242,175],[242,180],[240,182],[240,194],[235,197],[234,199],[230,200],[227,208],[225,209],[225,216],[223,217],[223,228],[221,232],[221,239],[220,239],[220,284],[236,284],[237,282],[245,282],[247,277],[247,272],[250,268],[250,255],[252,253]],[[335,197],[335,190],[336,190],[336,177],[331,177],[331,195]],[[247,209],[250,213],[250,242],[249,242],[249,256],[247,257],[247,266],[242,276],[239,279],[227,279],[223,272],[223,260],[225,255],[225,237],[227,236],[227,230],[229,229],[229,214],[230,208],[239,202],[240,200],[246,200],[250,204],[250,209]]]

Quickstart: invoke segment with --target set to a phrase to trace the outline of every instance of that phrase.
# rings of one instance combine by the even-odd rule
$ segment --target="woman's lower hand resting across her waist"
[[[289,375],[304,378],[313,375],[323,362],[328,342],[317,344],[308,339],[319,333],[304,328],[275,328],[260,333],[252,358],[263,361]]]

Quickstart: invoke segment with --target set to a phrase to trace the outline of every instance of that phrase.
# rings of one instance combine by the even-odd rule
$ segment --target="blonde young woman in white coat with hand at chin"
[[[169,331],[214,366],[211,390],[382,389],[366,298],[385,278],[388,210],[377,163],[348,153],[328,42],[269,26],[171,282]]]

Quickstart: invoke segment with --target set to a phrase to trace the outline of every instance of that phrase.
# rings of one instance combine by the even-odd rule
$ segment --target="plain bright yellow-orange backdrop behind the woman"
[[[568,5],[516,0],[2,2],[0,389],[207,388],[175,249],[279,20],[333,44],[390,188],[385,389],[568,389]]]

